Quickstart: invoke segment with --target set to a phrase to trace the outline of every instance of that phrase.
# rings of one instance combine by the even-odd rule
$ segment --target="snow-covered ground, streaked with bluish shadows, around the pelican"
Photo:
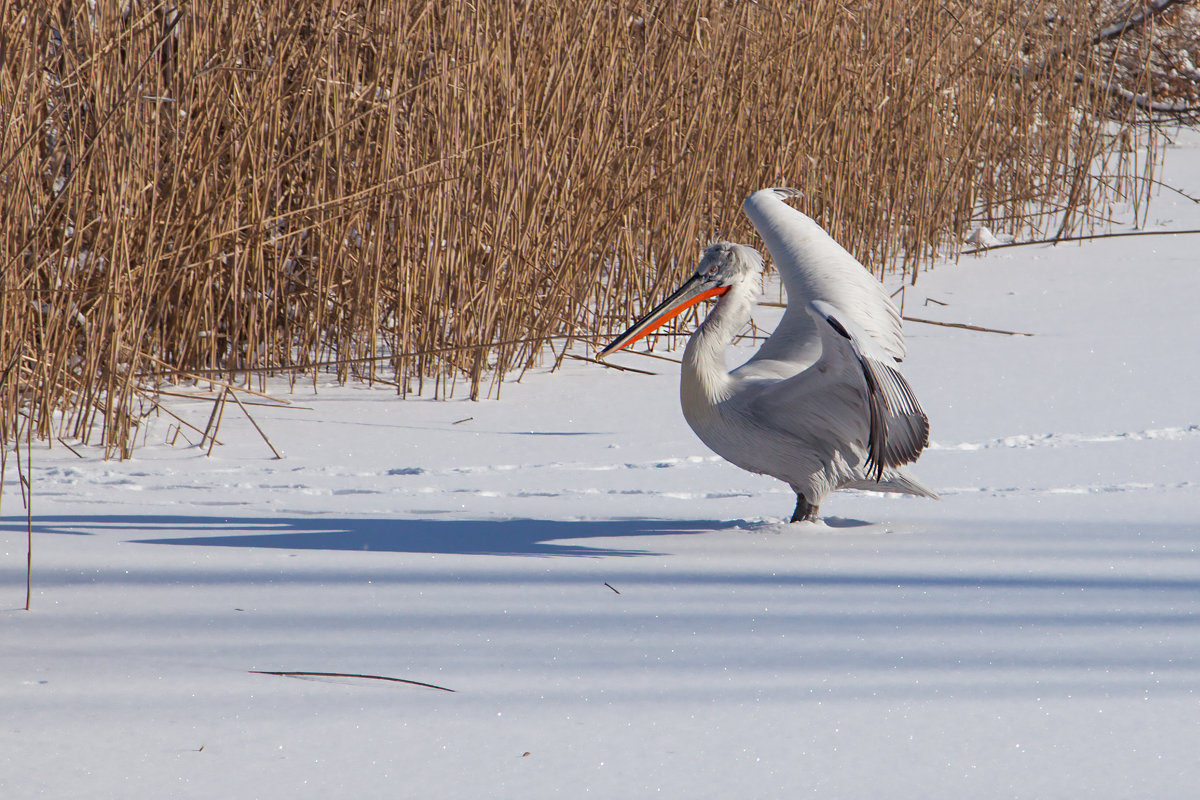
[[[1184,142],[1164,179],[1198,196]],[[14,474],[0,518],[0,796],[1194,796],[1198,252],[922,276],[907,315],[1032,336],[908,323],[943,500],[816,525],[638,355],[660,374],[479,403],[300,390],[251,408],[282,461],[232,404],[211,457],[166,416],[124,463],[35,449],[30,613]]]

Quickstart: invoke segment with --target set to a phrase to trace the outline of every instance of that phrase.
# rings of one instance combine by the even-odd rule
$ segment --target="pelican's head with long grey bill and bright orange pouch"
[[[696,273],[676,289],[670,297],[600,350],[602,359],[643,338],[664,323],[674,319],[702,300],[719,297],[734,288],[754,290],[762,273],[762,255],[754,247],[719,241],[704,248]]]

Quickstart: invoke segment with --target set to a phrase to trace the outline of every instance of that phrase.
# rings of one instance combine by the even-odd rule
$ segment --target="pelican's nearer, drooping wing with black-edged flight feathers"
[[[929,444],[929,417],[908,381],[896,371],[890,354],[833,303],[814,300],[808,311],[817,318],[818,325],[824,323],[836,333],[836,337],[822,336],[826,348],[822,360],[840,351],[841,357],[853,359],[862,369],[869,410],[864,464],[868,475],[878,481],[884,468],[917,461]]]

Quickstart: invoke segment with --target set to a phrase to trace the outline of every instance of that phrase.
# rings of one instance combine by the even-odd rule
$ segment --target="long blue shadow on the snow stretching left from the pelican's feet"
[[[348,517],[203,517],[78,515],[35,517],[35,534],[122,533],[143,545],[260,547],[289,551],[359,551],[457,555],[661,555],[647,549],[604,547],[570,540],[698,534],[737,528],[738,522],[678,519],[389,519]],[[22,521],[0,530],[25,530]],[[140,535],[150,534],[150,537]],[[155,536],[155,534],[169,534]]]

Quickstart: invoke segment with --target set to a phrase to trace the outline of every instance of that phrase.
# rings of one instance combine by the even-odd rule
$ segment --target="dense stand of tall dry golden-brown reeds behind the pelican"
[[[1156,19],[1093,41],[1123,7],[7,4],[0,440],[126,456],[205,374],[486,393],[752,242],[763,186],[880,273],[1078,229],[1153,164],[1112,83]]]

